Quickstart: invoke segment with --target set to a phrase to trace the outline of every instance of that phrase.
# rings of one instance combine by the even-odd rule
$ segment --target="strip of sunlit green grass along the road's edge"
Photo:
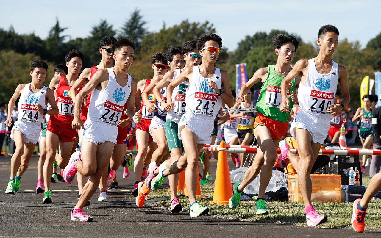
[[[365,178],[364,178],[365,183]],[[295,226],[307,226],[304,213],[303,203],[290,203],[272,201],[266,202],[266,207],[269,211],[268,215],[259,216],[254,214],[255,201],[241,201],[237,209],[231,210],[227,205],[209,204],[213,198],[213,185],[207,184],[201,187],[201,193],[207,195],[208,198],[198,199],[198,202],[203,206],[208,206],[209,214],[216,217],[226,219],[238,219],[244,221],[276,223]],[[170,197],[168,187],[161,188],[158,191],[151,192],[147,197]],[[183,205],[183,209],[189,212],[189,200],[184,197],[179,197],[179,202]],[[319,214],[328,216],[328,221],[320,227],[341,228],[351,227],[352,205],[353,203],[314,203],[314,208]],[[158,209],[168,210],[170,208],[170,200],[159,201],[147,206]],[[381,201],[370,201],[366,217],[366,229],[381,230]]]

